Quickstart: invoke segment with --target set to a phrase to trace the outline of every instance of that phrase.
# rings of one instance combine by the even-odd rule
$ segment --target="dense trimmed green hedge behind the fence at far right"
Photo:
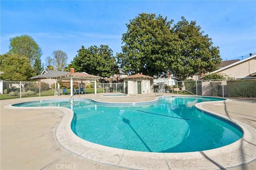
[[[227,81],[228,97],[256,98],[256,80]]]

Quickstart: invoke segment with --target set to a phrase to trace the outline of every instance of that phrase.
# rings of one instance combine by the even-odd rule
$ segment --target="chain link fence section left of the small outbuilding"
[[[0,81],[0,99],[26,98],[38,96],[54,96],[55,88],[58,88],[62,95],[70,94],[70,82],[59,82],[49,84],[46,82],[14,82]],[[95,93],[95,84],[73,82],[73,90],[84,89],[85,93]],[[63,90],[65,88],[65,90]],[[96,83],[96,93],[123,92],[123,83]]]

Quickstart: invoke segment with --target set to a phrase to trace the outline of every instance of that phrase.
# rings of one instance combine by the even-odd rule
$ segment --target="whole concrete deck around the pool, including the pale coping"
[[[177,96],[177,94],[165,95]],[[144,102],[156,99],[154,93],[110,98],[102,94],[83,94],[80,97],[100,102]],[[256,169],[256,100],[231,99],[198,106],[200,109],[223,115],[240,125],[244,129],[244,136],[235,143],[201,152],[154,154],[112,149],[86,142],[81,144],[82,139],[66,132],[67,125],[62,126],[70,119],[66,117],[70,115],[68,109],[6,108],[10,104],[19,102],[59,98],[70,98],[70,96],[0,101],[1,170]],[[75,95],[74,98],[79,98],[79,95]],[[58,132],[66,132],[66,135]],[[79,143],[80,146],[76,145]]]

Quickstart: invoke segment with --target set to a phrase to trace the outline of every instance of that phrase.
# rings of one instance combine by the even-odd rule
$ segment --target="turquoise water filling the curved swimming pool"
[[[229,145],[240,127],[196,109],[198,102],[221,98],[168,97],[150,105],[122,106],[84,99],[36,101],[14,106],[60,106],[74,111],[72,131],[100,145],[145,152],[192,152]]]

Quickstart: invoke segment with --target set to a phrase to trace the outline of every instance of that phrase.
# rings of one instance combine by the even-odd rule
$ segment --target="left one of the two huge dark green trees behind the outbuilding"
[[[128,74],[143,72],[150,76],[166,72],[175,45],[172,22],[146,13],[130,20],[122,36],[122,53],[117,55],[121,69]]]

